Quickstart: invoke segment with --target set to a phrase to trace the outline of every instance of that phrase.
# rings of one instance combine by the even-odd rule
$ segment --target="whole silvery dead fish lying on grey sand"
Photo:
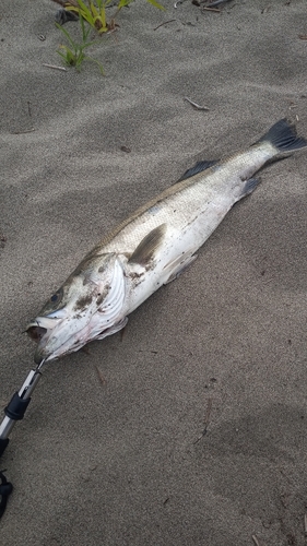
[[[26,328],[36,364],[51,361],[127,324],[128,316],[177,278],[227,212],[259,185],[269,162],[307,146],[286,119],[247,150],[198,162],[107,234]]]

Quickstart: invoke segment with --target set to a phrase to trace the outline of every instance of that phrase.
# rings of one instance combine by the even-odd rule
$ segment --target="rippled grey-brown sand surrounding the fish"
[[[102,76],[44,66],[55,3],[1,2],[2,407],[27,322],[107,230],[281,118],[307,136],[306,1],[164,3],[122,10],[88,50]],[[261,176],[122,340],[45,367],[1,460],[1,544],[305,545],[306,152]]]

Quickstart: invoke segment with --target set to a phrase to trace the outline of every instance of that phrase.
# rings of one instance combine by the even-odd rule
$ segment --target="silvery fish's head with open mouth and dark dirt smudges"
[[[34,360],[52,360],[120,330],[126,296],[116,253],[87,254],[26,328],[37,342]],[[122,324],[122,327],[115,327]]]

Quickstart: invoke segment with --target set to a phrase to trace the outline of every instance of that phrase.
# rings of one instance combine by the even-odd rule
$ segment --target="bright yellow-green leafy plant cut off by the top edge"
[[[129,5],[132,1],[133,0],[119,0],[116,7],[116,12],[109,22],[107,21],[106,16],[106,8],[111,2],[111,0],[88,0],[88,5],[86,5],[83,0],[74,0],[72,1],[73,5],[70,5],[69,3],[66,4],[66,10],[81,15],[91,26],[93,26],[93,28],[96,28],[98,33],[106,33],[108,31],[115,29],[115,17],[117,16],[118,12],[126,5]],[[146,1],[155,8],[158,8],[160,10],[165,10],[165,8],[161,5],[156,0]]]

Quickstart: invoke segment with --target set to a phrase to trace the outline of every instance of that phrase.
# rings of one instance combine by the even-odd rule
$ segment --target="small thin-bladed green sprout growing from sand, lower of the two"
[[[103,66],[96,59],[93,59],[92,57],[88,57],[87,55],[84,54],[84,49],[92,46],[96,41],[87,41],[91,27],[88,27],[87,29],[85,28],[85,23],[81,14],[79,14],[79,19],[82,31],[81,44],[74,41],[69,32],[61,25],[59,25],[59,23],[56,23],[56,26],[63,33],[63,35],[66,36],[66,38],[70,44],[70,47],[60,45],[61,50],[58,49],[57,54],[63,59],[66,64],[69,64],[70,67],[75,67],[78,71],[81,70],[81,64],[84,60],[90,60],[92,62],[95,62],[98,66],[101,73],[104,74]]]

